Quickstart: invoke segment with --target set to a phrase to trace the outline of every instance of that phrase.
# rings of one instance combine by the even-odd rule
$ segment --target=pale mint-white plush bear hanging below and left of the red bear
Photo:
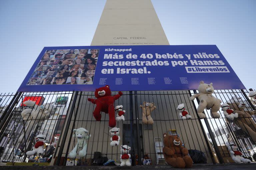
[[[85,128],[73,129],[73,132],[75,132],[73,137],[77,138],[77,144],[74,147],[74,149],[69,153],[69,158],[74,159],[76,157],[76,152],[79,148],[82,149],[78,153],[79,156],[85,157],[87,153],[87,142],[91,135],[88,135],[89,131],[86,130]]]

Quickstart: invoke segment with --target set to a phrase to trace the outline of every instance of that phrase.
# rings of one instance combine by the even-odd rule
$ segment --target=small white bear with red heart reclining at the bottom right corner
[[[234,143],[227,143],[226,146],[233,161],[236,163],[251,163],[251,160],[242,157],[243,153],[237,150],[237,147]]]

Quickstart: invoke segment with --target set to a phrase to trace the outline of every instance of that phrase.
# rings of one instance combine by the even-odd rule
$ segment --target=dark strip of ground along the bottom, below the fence
[[[142,165],[142,166],[0,166],[1,170],[118,170],[118,169],[131,169],[131,170],[169,170],[173,168],[168,165]],[[194,164],[189,170],[256,170],[256,163],[250,164]]]

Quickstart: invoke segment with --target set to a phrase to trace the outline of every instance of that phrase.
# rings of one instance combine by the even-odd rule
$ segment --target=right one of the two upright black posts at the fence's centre
[[[137,132],[137,149],[138,149],[138,165],[141,165],[141,146],[140,146],[140,130],[139,130],[139,114],[138,114],[138,96],[137,91],[134,91],[135,99],[135,117],[136,117],[136,132]]]

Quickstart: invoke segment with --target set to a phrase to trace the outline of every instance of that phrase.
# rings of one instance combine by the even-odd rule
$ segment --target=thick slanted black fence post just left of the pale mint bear
[[[65,136],[67,136],[67,134],[68,134],[69,124],[71,122],[72,115],[73,115],[73,112],[74,112],[74,109],[75,109],[75,104],[76,104],[77,96],[78,96],[78,91],[75,92],[74,99],[71,98],[71,100],[73,100],[72,101],[73,103],[72,103],[70,111],[69,110],[67,111],[67,114],[69,114],[69,117],[68,117],[68,121],[67,121],[67,124],[66,124],[65,131],[64,131],[64,133],[62,135],[63,137],[62,137],[62,141],[61,141],[61,146],[60,146],[60,149],[59,149],[59,154],[58,154],[58,157],[57,157],[55,165],[59,165],[60,164],[60,159],[61,159],[61,156],[62,156],[62,151],[64,149],[65,140],[66,140]],[[71,100],[70,100],[70,102],[71,102]]]

